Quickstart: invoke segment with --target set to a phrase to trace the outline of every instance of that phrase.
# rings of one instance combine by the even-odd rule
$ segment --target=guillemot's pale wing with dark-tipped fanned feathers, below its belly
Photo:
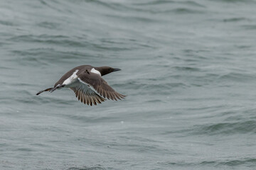
[[[92,91],[92,89],[90,89],[86,84],[77,84],[77,86],[70,87],[70,89],[75,92],[75,96],[79,101],[87,105],[97,105],[97,103],[105,101],[105,98],[97,95],[95,91]]]

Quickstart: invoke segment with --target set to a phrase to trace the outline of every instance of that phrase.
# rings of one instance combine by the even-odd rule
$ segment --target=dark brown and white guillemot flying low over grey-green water
[[[114,91],[107,84],[107,81],[102,79],[102,76],[119,70],[121,69],[114,69],[108,66],[92,67],[90,65],[81,65],[70,69],[53,87],[43,91],[51,93],[55,89],[69,88],[75,92],[78,100],[90,106],[102,103],[106,99],[121,100],[125,96]],[[36,95],[41,94],[43,91],[39,91]]]

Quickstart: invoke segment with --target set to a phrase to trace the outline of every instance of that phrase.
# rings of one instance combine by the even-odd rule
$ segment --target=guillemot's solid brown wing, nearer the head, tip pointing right
[[[107,82],[100,77],[100,75],[90,72],[78,74],[78,80],[82,84],[86,84],[92,89],[92,91],[97,91],[99,96],[103,98],[112,99],[117,101],[117,99],[121,100],[125,96],[119,94],[117,91],[114,91],[111,86],[107,84]]]

